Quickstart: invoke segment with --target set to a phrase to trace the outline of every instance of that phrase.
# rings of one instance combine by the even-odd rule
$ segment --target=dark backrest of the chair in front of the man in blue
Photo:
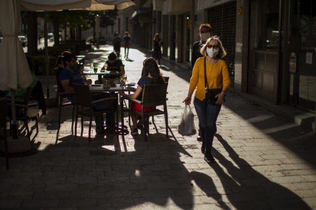
[[[88,85],[74,83],[76,104],[83,107],[92,106],[92,97]]]

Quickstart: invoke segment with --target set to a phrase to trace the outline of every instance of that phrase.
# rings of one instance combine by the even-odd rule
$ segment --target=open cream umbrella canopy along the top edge
[[[69,10],[111,10],[117,6],[125,9],[135,5],[131,0],[22,0],[22,10],[26,11],[58,11]]]

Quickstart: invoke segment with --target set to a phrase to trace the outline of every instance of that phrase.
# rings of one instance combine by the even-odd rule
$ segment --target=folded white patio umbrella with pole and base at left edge
[[[20,0],[0,0],[0,27],[3,36],[0,45],[0,89],[11,90],[13,139],[18,139],[14,92],[18,87],[27,88],[32,82],[31,71],[18,38],[20,6]],[[26,146],[15,148],[15,151],[31,149],[28,138],[20,137],[20,141]],[[11,141],[8,143],[10,149]]]

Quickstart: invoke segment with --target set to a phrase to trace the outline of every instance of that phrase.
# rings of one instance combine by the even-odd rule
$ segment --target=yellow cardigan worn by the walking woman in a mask
[[[206,60],[206,78],[209,89],[228,88],[231,85],[226,63],[221,59],[213,65]],[[197,88],[195,97],[203,101],[205,99],[204,57],[198,58],[193,68],[189,90],[194,91],[195,88]]]

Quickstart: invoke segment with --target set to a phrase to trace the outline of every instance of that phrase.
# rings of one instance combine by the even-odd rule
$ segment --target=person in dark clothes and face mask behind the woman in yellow
[[[211,35],[213,34],[212,32],[212,27],[210,24],[208,23],[204,23],[199,25],[199,37],[200,40],[196,41],[193,44],[192,47],[192,56],[191,56],[191,66],[192,68],[194,67],[196,61],[198,58],[203,57],[203,55],[200,53],[200,50],[202,48],[202,46],[205,44],[206,40],[211,37]],[[198,135],[197,135],[197,140],[201,141],[201,135],[199,133],[200,130],[200,126],[198,123]],[[215,133],[216,133],[216,129],[215,129]]]

